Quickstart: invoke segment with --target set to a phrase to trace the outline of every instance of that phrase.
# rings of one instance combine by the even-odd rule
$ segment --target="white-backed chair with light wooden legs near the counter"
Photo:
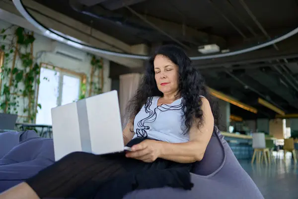
[[[270,161],[270,151],[266,148],[265,134],[264,133],[253,133],[252,134],[252,148],[254,149],[251,164],[253,164],[256,158],[257,163],[261,163],[261,159],[265,159],[266,165],[268,164],[266,153]]]

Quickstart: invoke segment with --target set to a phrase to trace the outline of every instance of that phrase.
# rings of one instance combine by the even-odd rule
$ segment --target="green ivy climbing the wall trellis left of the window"
[[[12,25],[1,30],[1,38],[6,43],[8,41],[9,44],[1,45],[4,61],[1,66],[0,111],[18,114],[19,101],[23,100],[23,112],[28,116],[24,122],[33,122],[38,111],[35,108],[37,102],[35,101],[36,87],[34,85],[40,83],[38,79],[40,66],[34,60],[31,52],[31,45],[35,41],[35,37],[24,28]],[[37,106],[41,109],[41,104],[37,104]]]

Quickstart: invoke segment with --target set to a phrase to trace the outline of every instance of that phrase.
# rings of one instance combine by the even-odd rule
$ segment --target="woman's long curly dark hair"
[[[194,117],[198,118],[198,128],[202,125],[203,111],[201,109],[202,100],[200,96],[204,96],[211,105],[212,113],[217,125],[218,106],[215,100],[209,94],[205,81],[201,73],[191,65],[191,60],[186,55],[185,51],[175,45],[164,45],[159,47],[154,54],[150,57],[146,66],[145,74],[141,80],[135,96],[129,101],[126,107],[126,114],[130,120],[133,120],[137,113],[141,110],[142,106],[146,103],[147,98],[152,96],[162,97],[163,94],[158,90],[155,73],[154,73],[154,59],[156,55],[163,55],[169,58],[174,64],[179,67],[178,78],[178,94],[184,100],[182,110],[184,114],[185,127],[184,133],[187,133],[193,124]]]

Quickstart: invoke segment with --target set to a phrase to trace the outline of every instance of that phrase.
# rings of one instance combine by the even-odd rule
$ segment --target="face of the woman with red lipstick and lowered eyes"
[[[178,91],[179,68],[169,58],[156,55],[154,72],[157,88],[163,94],[175,94]]]

